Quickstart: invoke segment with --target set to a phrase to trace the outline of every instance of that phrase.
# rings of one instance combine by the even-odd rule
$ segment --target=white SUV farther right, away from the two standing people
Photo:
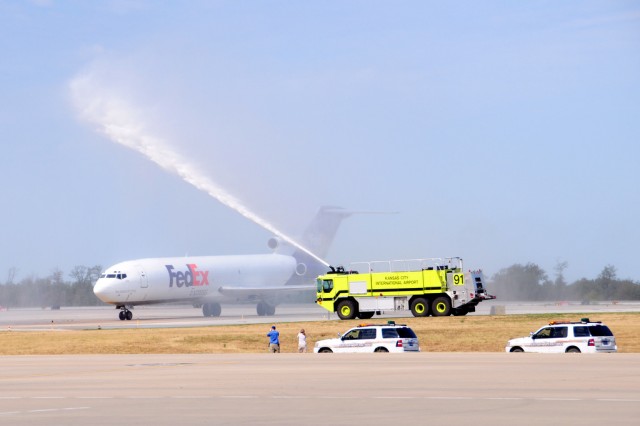
[[[506,352],[617,352],[616,338],[601,322],[582,318],[580,322],[552,321],[529,337],[511,339]]]

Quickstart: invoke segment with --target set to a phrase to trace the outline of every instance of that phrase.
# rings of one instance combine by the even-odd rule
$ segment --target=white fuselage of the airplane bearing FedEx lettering
[[[94,293],[114,305],[240,299],[224,289],[251,300],[260,289],[282,287],[295,273],[295,258],[282,254],[138,259],[108,268]]]

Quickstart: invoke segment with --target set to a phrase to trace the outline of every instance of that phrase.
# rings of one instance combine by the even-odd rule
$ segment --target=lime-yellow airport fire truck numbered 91
[[[465,273],[459,257],[357,262],[317,279],[316,303],[340,319],[405,310],[415,317],[466,315],[487,299],[495,296],[486,292],[482,271]]]

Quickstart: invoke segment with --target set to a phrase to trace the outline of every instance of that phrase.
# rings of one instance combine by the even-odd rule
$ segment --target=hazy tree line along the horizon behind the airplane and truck
[[[598,301],[640,300],[640,283],[619,279],[616,268],[607,265],[594,278],[582,278],[567,283],[564,270],[567,263],[554,268],[553,279],[535,263],[514,264],[501,269],[488,279],[490,294],[505,301],[559,301],[571,300],[583,303]],[[60,307],[104,305],[93,294],[93,286],[102,267],[76,266],[65,279],[61,270],[54,270],[44,278],[30,276],[15,282],[16,270],[11,269],[4,283],[0,283],[0,306],[11,307]],[[313,295],[315,299],[315,295]],[[312,300],[304,298],[304,301]],[[301,301],[301,300],[296,300]]]

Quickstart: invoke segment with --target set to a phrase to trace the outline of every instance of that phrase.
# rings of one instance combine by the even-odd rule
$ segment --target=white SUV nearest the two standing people
[[[331,352],[418,352],[418,338],[406,325],[389,321],[386,325],[360,325],[337,339],[319,340],[315,353]]]

